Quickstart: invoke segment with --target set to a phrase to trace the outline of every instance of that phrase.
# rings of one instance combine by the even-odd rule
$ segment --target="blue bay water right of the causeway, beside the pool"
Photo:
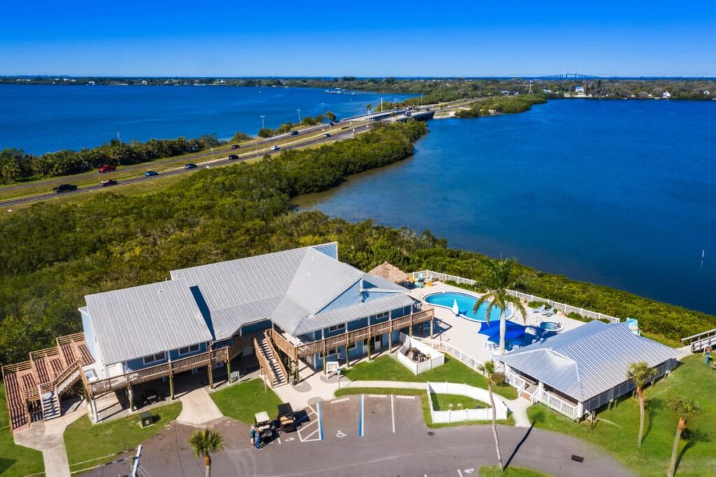
[[[298,203],[716,314],[715,122],[715,102],[590,100],[433,120],[414,157]]]

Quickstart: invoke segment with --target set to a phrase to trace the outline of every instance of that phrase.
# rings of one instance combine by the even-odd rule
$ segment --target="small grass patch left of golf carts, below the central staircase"
[[[279,396],[270,387],[263,390],[263,382],[259,379],[213,392],[211,399],[223,415],[247,424],[253,424],[253,415],[262,410],[275,417],[279,412],[276,406],[281,404]]]

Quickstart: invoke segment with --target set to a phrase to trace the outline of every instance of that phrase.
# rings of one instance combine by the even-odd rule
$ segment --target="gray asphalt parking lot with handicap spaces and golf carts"
[[[212,456],[214,476],[477,476],[494,465],[490,426],[427,428],[417,396],[353,395],[296,412],[298,428],[276,433],[260,450],[249,443],[250,426],[230,418],[211,425],[225,448]],[[276,410],[267,410],[275,415]],[[195,430],[177,423],[144,443],[141,464],[150,477],[203,475],[203,461],[187,444]],[[630,475],[606,453],[565,435],[500,426],[505,461],[556,476]],[[571,454],[584,456],[583,463]],[[127,456],[123,456],[127,457]],[[89,471],[122,476],[130,460]],[[76,470],[73,468],[73,470]]]

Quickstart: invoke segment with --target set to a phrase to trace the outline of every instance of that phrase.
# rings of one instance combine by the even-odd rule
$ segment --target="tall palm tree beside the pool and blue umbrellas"
[[[521,312],[523,322],[527,317],[527,312],[521,300],[508,293],[508,289],[513,288],[521,281],[522,274],[516,269],[517,261],[515,259],[485,260],[485,266],[488,269],[487,276],[485,276],[483,281],[480,281],[480,285],[487,289],[487,291],[475,303],[473,312],[477,313],[480,305],[487,303],[486,319],[487,323],[490,324],[490,313],[493,307],[498,307],[500,310],[500,355],[504,355],[505,332],[507,331],[507,316],[505,315],[505,310],[508,304],[513,305],[513,307]]]

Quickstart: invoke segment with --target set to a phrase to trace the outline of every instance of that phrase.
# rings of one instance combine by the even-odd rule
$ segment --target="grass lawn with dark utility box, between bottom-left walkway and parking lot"
[[[97,425],[90,423],[87,416],[83,416],[64,431],[64,446],[67,448],[69,465],[72,467],[80,462],[136,448],[142,441],[159,433],[166,424],[175,420],[180,411],[181,403],[154,408],[150,413],[155,416],[155,423],[146,428],[140,427],[139,415]],[[112,457],[98,459],[86,465],[75,466],[72,471],[111,460]]]

